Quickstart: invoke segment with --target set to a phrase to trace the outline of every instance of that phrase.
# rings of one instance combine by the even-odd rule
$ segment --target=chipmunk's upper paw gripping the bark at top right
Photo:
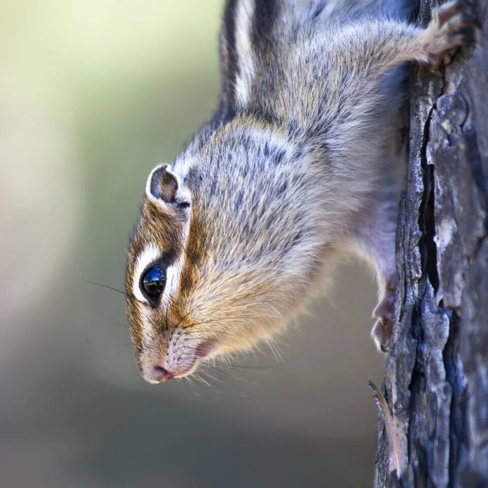
[[[463,0],[453,0],[434,9],[425,32],[428,62],[437,65],[447,50],[474,43],[475,18],[470,5]]]

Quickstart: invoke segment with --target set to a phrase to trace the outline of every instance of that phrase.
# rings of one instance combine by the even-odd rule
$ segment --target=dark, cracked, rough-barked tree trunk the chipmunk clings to
[[[375,487],[488,486],[488,2],[475,9],[481,45],[412,69]]]

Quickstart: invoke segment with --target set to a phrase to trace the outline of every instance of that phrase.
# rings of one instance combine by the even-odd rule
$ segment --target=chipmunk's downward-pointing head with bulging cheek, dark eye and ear
[[[300,198],[313,170],[290,171],[297,155],[286,139],[241,123],[201,135],[147,180],[126,287],[149,382],[269,338],[303,303],[317,266]]]

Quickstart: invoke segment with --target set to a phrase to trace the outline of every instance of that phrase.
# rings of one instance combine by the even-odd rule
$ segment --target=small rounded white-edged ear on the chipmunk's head
[[[169,164],[160,164],[151,171],[146,183],[146,195],[159,205],[190,206],[190,193]]]

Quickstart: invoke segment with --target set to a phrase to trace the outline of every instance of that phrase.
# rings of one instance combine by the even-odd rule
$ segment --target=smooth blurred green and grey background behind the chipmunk
[[[134,364],[125,247],[146,177],[210,115],[222,1],[0,2],[0,486],[371,486],[376,288],[352,263],[213,385]]]

